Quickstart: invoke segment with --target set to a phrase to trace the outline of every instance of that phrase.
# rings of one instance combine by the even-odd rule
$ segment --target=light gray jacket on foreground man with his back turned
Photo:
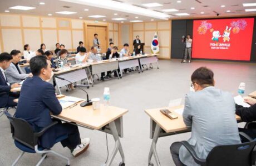
[[[185,97],[183,119],[192,127],[189,144],[199,158],[206,159],[215,146],[238,144],[238,125],[235,120],[235,102],[231,94],[215,87],[190,92]],[[181,146],[179,158],[185,165],[198,165]]]

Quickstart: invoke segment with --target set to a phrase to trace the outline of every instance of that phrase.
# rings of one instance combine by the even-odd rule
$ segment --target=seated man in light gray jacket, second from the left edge
[[[6,76],[9,83],[17,83],[21,82],[22,80],[26,79],[27,77],[32,77],[32,73],[25,74],[21,67],[19,66],[19,60],[21,60],[21,51],[19,50],[12,50],[12,63],[10,64],[9,68],[6,69]]]

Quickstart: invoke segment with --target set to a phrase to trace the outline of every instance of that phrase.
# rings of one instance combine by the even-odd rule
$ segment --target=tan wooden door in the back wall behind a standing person
[[[94,34],[98,34],[98,39],[100,41],[101,52],[105,53],[107,51],[107,27],[101,26],[91,26],[87,25],[87,48],[91,50],[93,46]]]

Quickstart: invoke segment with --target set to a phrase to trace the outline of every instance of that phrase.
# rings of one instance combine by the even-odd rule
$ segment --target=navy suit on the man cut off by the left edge
[[[7,84],[3,74],[0,70],[0,108],[17,106],[13,100],[18,97],[18,94],[10,91],[11,86]]]

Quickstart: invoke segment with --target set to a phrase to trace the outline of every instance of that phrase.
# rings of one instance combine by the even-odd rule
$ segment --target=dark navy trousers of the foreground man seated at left
[[[44,140],[46,141],[47,139],[54,139],[56,140],[58,137],[61,137],[65,134],[67,134],[67,138],[61,141],[61,144],[63,147],[68,147],[70,150],[73,150],[76,148],[78,144],[81,144],[81,138],[80,138],[80,133],[78,131],[78,127],[76,125],[72,125],[70,123],[59,123],[56,124],[55,126],[51,127],[48,129],[45,134],[40,138],[40,142],[42,144],[42,147],[44,146]],[[49,136],[51,138],[49,138]],[[54,145],[50,145],[50,147],[45,147],[45,148],[51,148]]]

